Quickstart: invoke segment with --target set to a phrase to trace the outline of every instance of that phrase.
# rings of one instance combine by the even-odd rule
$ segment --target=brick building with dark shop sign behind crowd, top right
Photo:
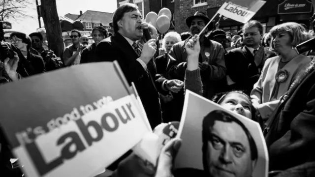
[[[179,33],[188,31],[186,18],[193,15],[197,10],[207,11],[211,19],[226,0],[175,0],[175,30]],[[284,22],[297,22],[309,26],[309,18],[313,14],[311,0],[265,0],[265,5],[252,18],[262,23],[264,31],[268,31],[275,25]],[[299,8],[286,8],[286,4],[297,4]],[[215,18],[211,26],[219,20]],[[232,19],[221,18],[220,28],[225,31],[236,31],[243,24]]]

